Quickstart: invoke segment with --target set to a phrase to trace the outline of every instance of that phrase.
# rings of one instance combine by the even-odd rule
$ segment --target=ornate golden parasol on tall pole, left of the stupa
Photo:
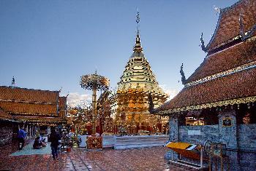
[[[109,79],[107,79],[105,76],[99,76],[96,71],[94,74],[81,76],[80,86],[83,89],[92,90],[92,135],[95,136],[95,116],[97,116],[97,90],[108,90]],[[92,148],[99,148],[98,143],[95,140],[96,139],[89,140],[89,143],[91,142]]]

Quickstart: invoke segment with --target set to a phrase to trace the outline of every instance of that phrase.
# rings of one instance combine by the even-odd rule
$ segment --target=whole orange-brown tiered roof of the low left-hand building
[[[66,104],[67,98],[59,97],[59,91],[0,86],[2,111],[20,122],[63,123]]]

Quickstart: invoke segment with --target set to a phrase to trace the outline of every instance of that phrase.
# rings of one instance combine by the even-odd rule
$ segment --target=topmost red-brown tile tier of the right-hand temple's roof
[[[233,6],[221,10],[216,30],[207,45],[208,51],[240,35],[240,13],[244,23],[244,31],[249,31],[256,23],[256,1],[241,0]]]

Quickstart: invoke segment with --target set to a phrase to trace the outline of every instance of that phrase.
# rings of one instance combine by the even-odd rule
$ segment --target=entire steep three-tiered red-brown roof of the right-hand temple
[[[247,32],[239,25],[239,16]],[[173,100],[154,110],[171,114],[256,101],[256,1],[241,0],[220,10],[203,63]]]

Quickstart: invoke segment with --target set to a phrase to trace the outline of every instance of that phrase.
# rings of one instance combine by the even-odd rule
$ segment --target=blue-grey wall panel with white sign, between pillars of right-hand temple
[[[179,140],[186,143],[203,144],[206,140],[219,142],[219,125],[180,126]]]

